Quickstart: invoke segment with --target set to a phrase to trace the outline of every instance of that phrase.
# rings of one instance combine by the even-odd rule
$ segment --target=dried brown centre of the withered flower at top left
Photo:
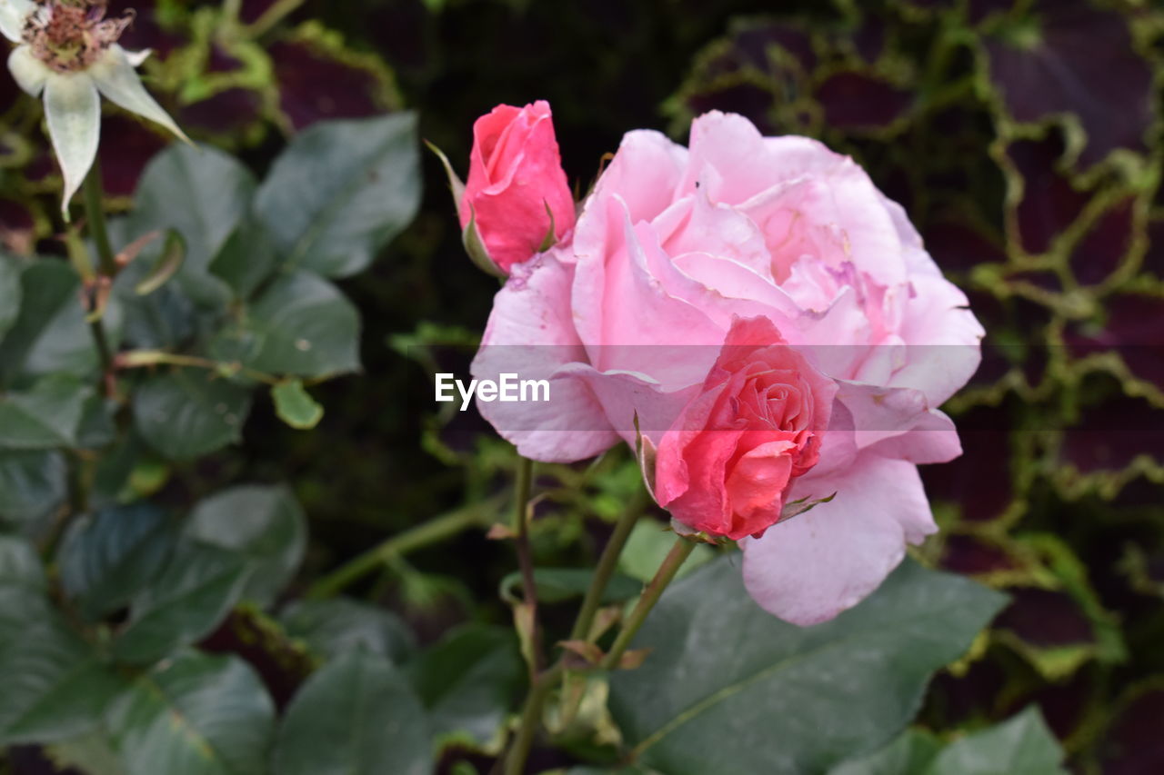
[[[107,0],[43,0],[24,27],[33,55],[57,72],[91,66],[133,21],[106,19]]]

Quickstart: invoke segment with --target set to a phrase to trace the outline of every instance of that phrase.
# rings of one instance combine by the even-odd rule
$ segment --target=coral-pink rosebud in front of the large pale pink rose
[[[694,531],[760,538],[816,465],[837,385],[766,318],[737,320],[655,453],[654,496]]]

